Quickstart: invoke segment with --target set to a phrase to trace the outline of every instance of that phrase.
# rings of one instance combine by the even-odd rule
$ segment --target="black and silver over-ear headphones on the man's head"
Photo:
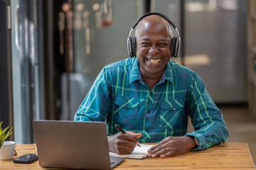
[[[166,21],[168,21],[171,26],[174,27],[174,29],[176,30],[176,33],[178,35],[178,37],[173,37],[171,38],[171,57],[177,57],[178,56],[178,52],[180,50],[180,47],[181,47],[181,37],[180,35],[178,34],[178,29],[177,27],[174,25],[173,22],[170,21],[170,19],[165,16],[164,14],[162,13],[145,13],[141,18],[139,18],[139,20],[137,21],[137,23],[134,23],[134,25],[132,26],[130,32],[129,32],[129,35],[128,35],[128,38],[127,38],[127,50],[128,50],[128,53],[129,53],[129,56],[130,57],[135,57],[136,56],[136,39],[135,37],[131,37],[131,34],[132,34],[132,30],[134,30],[134,28],[138,25],[139,21],[142,20],[142,18],[146,17],[146,16],[150,16],[150,15],[158,15],[158,16],[161,16],[163,17],[164,19],[166,19]]]

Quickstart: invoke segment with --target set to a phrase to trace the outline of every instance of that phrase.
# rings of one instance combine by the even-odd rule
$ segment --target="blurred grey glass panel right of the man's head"
[[[216,103],[247,102],[246,8],[242,0],[151,1],[151,11],[166,13],[183,30],[183,63]]]

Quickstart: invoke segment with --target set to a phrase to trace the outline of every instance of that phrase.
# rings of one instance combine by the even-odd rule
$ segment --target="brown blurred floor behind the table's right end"
[[[229,137],[227,142],[247,142],[256,165],[256,120],[247,108],[220,108]]]

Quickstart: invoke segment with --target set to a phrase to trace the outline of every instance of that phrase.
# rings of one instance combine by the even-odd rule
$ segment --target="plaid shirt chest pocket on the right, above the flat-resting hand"
[[[171,130],[182,130],[184,118],[184,101],[160,101],[160,126]]]

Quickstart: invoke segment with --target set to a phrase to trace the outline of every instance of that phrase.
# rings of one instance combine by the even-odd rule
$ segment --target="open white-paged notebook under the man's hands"
[[[149,154],[147,151],[149,148],[153,147],[154,145],[144,145],[139,144],[141,147],[135,147],[132,154],[115,154],[113,152],[110,152],[111,157],[124,157],[124,158],[132,158],[132,159],[143,159],[147,157]]]

